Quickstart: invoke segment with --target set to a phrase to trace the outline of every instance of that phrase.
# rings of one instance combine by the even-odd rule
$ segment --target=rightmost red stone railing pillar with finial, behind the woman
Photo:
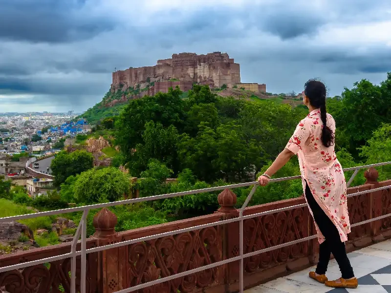
[[[377,181],[379,178],[379,173],[377,170],[373,167],[370,167],[368,170],[365,171],[364,177],[367,178],[365,184],[370,184],[371,188],[379,188],[380,184]],[[382,191],[375,191],[371,192],[369,194],[370,197],[370,219],[376,218],[381,216],[382,214]],[[370,230],[371,230],[371,236],[374,237],[373,239],[376,241],[384,240],[381,235],[379,235],[380,227],[381,227],[382,221],[374,221],[370,223]],[[380,238],[379,238],[380,237]],[[379,239],[378,239],[379,238]]]

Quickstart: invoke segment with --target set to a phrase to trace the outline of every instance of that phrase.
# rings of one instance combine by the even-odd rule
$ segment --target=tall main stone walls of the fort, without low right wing
[[[209,84],[240,83],[240,66],[227,53],[214,52],[207,55],[195,53],[173,54],[171,59],[158,60],[154,66],[129,68],[112,73],[111,90],[128,88],[135,84],[178,79],[183,82]]]

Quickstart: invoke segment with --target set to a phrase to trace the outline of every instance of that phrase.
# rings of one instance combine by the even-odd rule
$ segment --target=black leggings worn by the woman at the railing
[[[339,269],[344,279],[354,277],[353,268],[350,265],[348,255],[346,254],[345,243],[341,241],[337,227],[333,224],[324,210],[318,205],[311,189],[305,182],[305,197],[309,207],[314,215],[314,220],[321,230],[326,240],[319,246],[319,262],[316,268],[317,274],[325,274],[327,271],[328,261],[330,260],[331,252],[338,263]]]

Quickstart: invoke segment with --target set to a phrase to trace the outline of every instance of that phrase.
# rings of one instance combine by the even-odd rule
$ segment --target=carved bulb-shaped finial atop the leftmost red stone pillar
[[[95,227],[94,236],[97,238],[109,238],[116,234],[114,227],[117,225],[117,216],[109,209],[101,209],[92,221],[92,225]]]

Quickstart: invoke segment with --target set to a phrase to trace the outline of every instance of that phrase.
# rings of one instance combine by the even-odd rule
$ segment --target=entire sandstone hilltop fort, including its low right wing
[[[235,63],[227,53],[221,52],[206,55],[173,54],[170,59],[158,60],[154,66],[115,71],[112,73],[111,92],[148,87],[144,93],[153,95],[157,92],[168,92],[170,87],[175,86],[187,91],[195,83],[208,84],[211,88],[225,84],[228,88],[266,92],[265,84],[241,84],[239,63]]]

